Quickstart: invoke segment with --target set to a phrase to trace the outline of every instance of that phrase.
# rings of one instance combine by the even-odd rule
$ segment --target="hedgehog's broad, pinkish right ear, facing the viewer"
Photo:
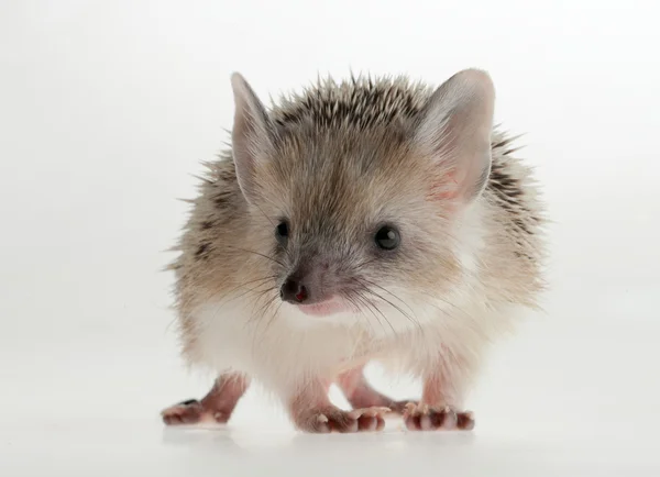
[[[494,103],[493,82],[477,69],[455,74],[431,95],[415,143],[439,167],[436,197],[468,203],[484,189],[491,173]]]

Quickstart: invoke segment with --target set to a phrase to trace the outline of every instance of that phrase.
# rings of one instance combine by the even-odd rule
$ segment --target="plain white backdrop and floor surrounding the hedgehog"
[[[70,1],[0,7],[0,475],[658,475],[657,1]],[[491,71],[549,214],[546,313],[503,341],[473,434],[297,435],[257,390],[164,430],[209,376],[160,271],[228,140],[229,75]],[[414,384],[378,386],[400,397]]]

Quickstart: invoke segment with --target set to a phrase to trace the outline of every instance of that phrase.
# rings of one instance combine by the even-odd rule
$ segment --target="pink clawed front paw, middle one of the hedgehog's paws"
[[[387,412],[391,412],[388,408],[376,407],[352,411],[334,407],[310,409],[299,413],[295,424],[300,431],[310,433],[382,431],[385,428],[383,415]]]

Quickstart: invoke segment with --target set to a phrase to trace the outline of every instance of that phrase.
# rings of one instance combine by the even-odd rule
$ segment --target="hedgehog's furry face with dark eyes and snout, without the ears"
[[[267,187],[253,199],[255,226],[268,230],[287,307],[409,323],[413,301],[458,278],[449,211],[432,198],[430,167],[387,136],[307,134],[260,168]]]

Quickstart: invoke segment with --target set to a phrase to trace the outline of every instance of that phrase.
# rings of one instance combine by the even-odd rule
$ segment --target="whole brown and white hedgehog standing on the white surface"
[[[207,165],[172,265],[183,354],[218,379],[165,422],[227,422],[254,378],[302,431],[382,429],[388,409],[413,430],[471,429],[488,344],[542,288],[541,207],[494,129],[488,75],[327,80],[270,110],[232,87],[231,151]],[[374,241],[383,226],[396,248]],[[311,306],[282,298],[290,277]],[[370,360],[421,378],[421,398],[375,391]]]

